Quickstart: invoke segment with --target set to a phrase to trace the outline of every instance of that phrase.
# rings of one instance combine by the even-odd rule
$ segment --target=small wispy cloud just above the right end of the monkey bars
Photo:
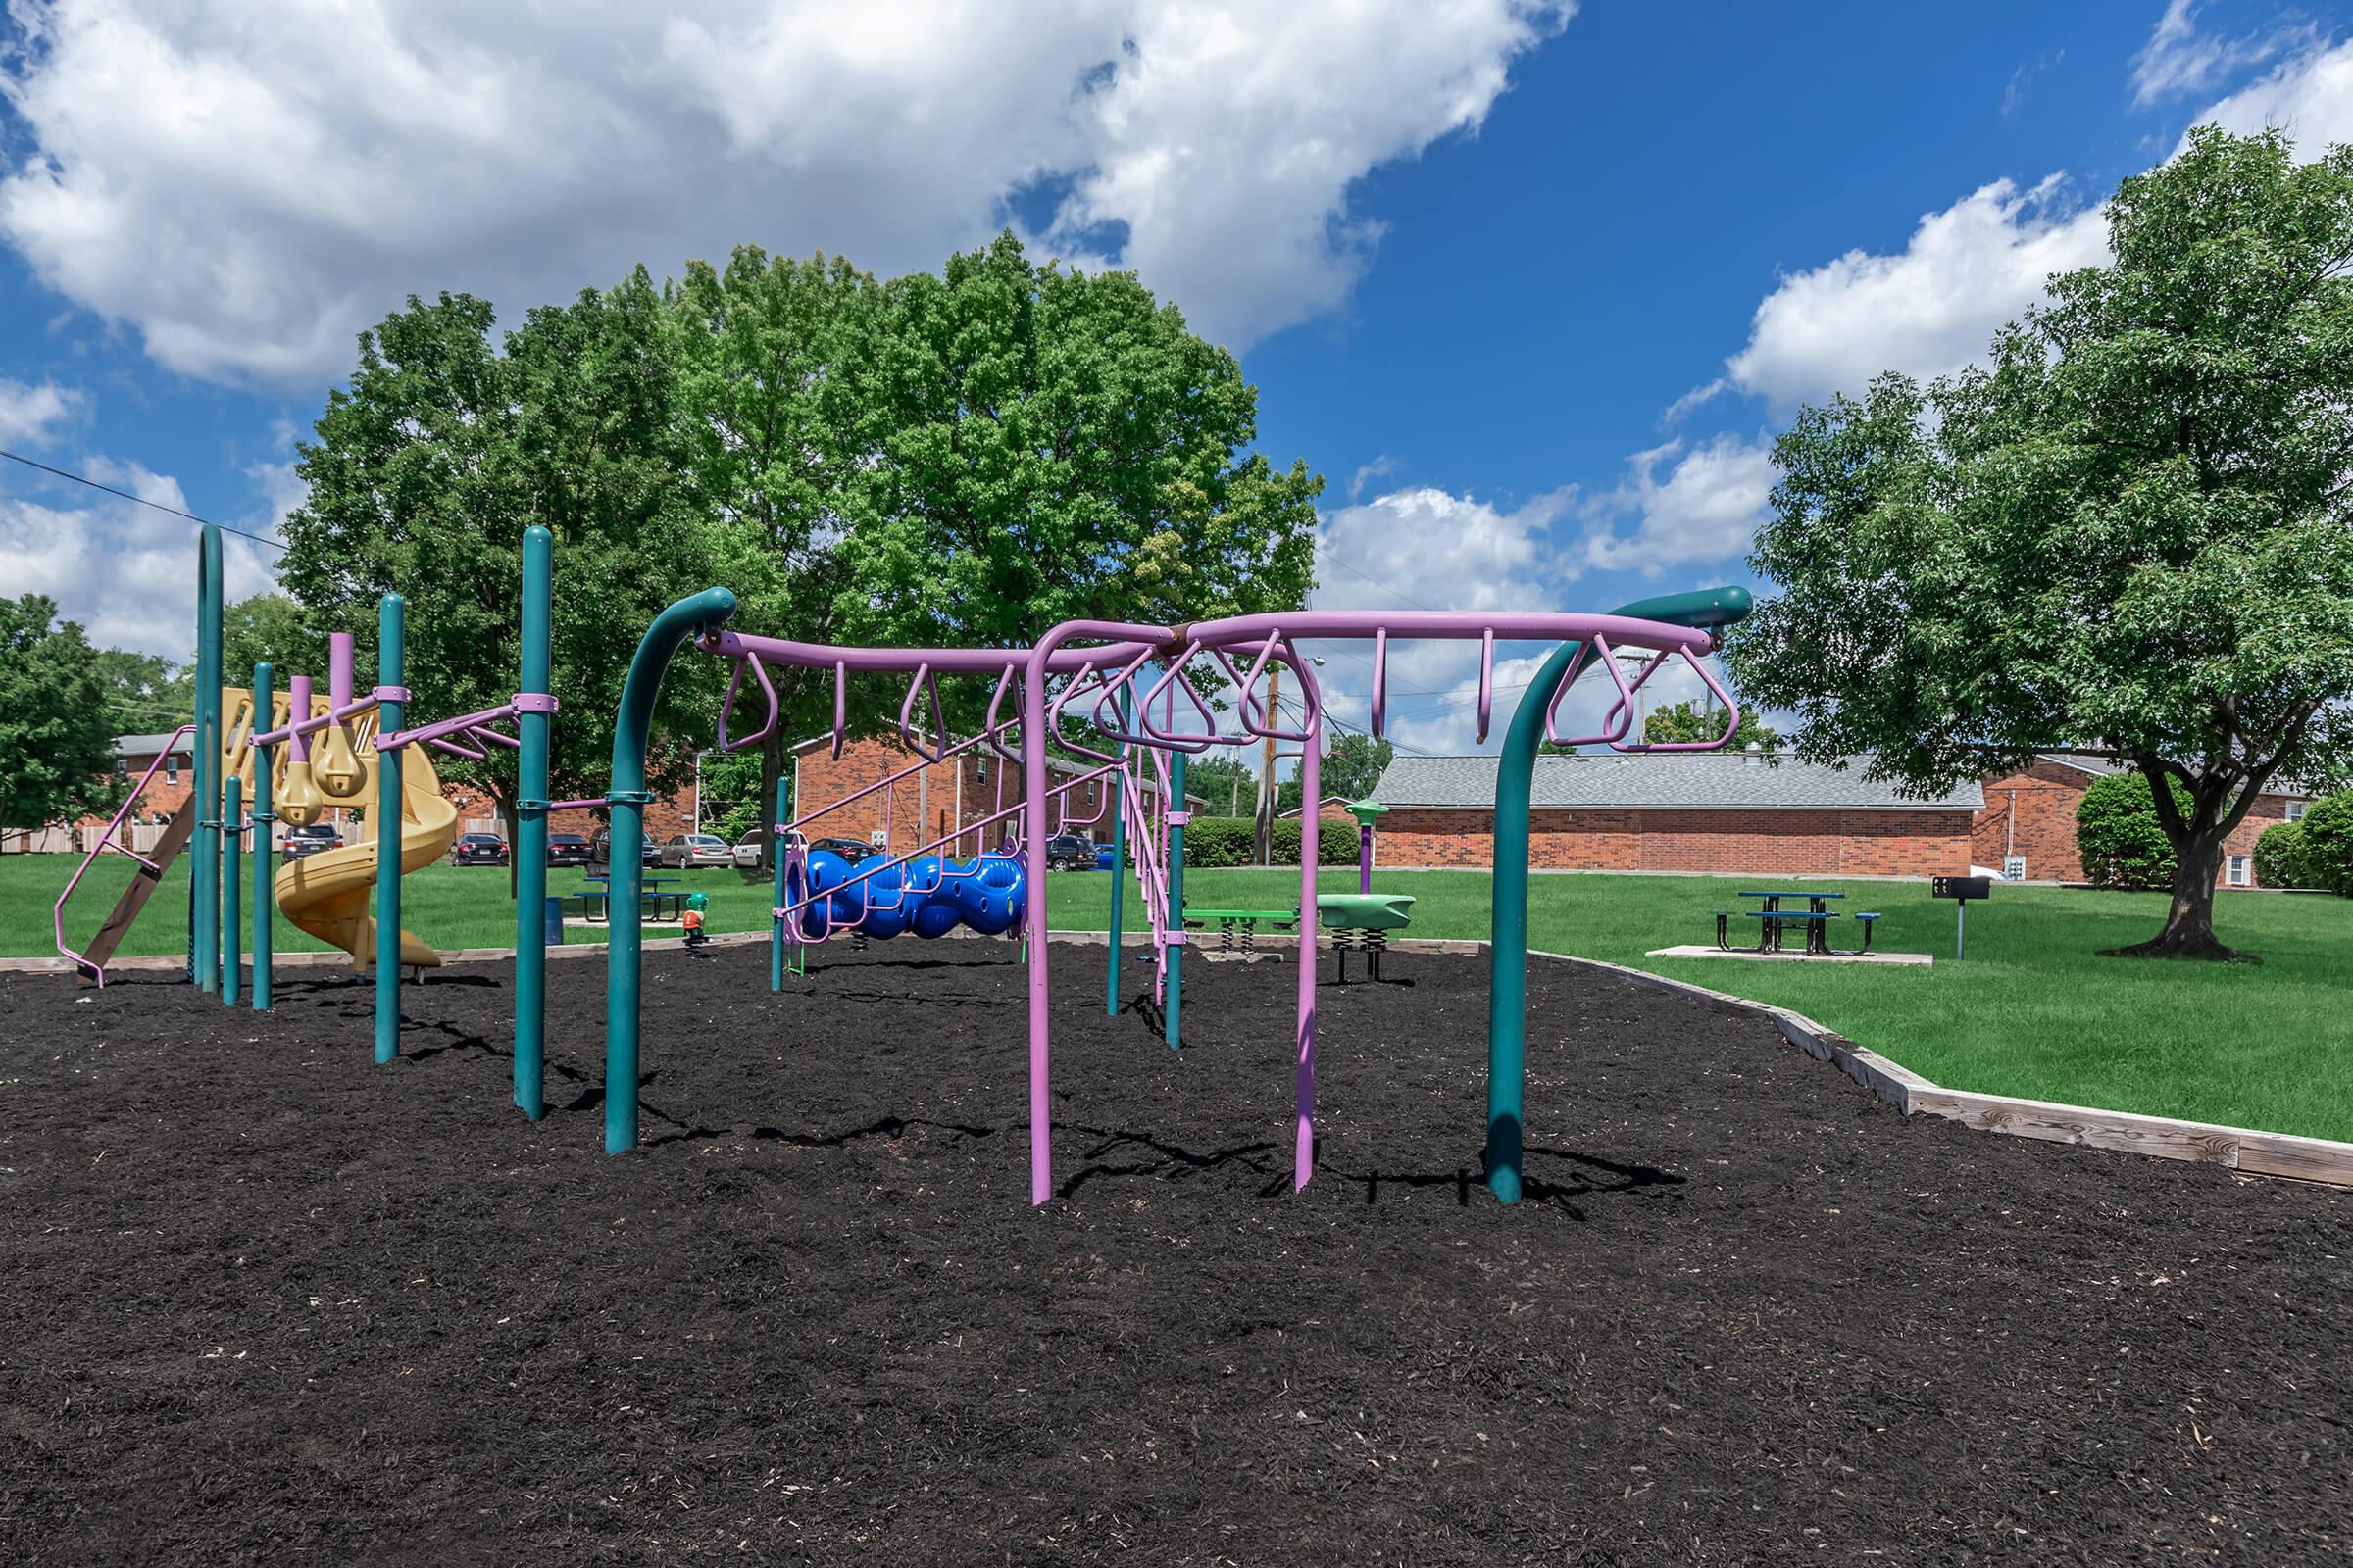
[[[1666,477],[1659,465],[1673,458]],[[1593,520],[1579,545],[1579,569],[1640,571],[1734,559],[1748,552],[1774,487],[1772,449],[1718,435],[1692,447],[1666,442],[1626,461],[1626,480],[1586,503]],[[1633,517],[1628,534],[1619,517]]]

